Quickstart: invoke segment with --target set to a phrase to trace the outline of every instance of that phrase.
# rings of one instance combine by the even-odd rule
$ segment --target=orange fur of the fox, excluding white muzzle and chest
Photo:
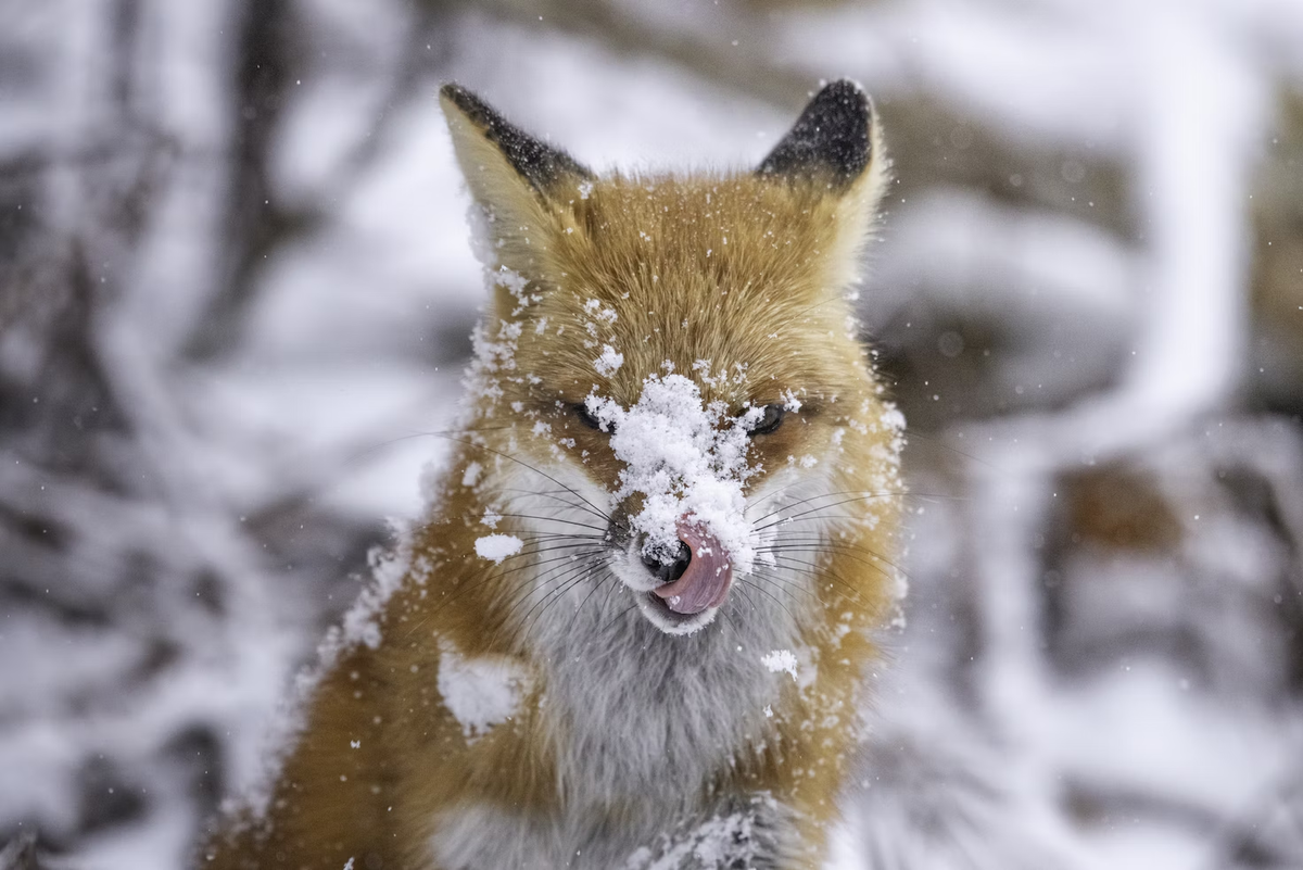
[[[407,574],[377,615],[379,643],[354,643],[326,669],[266,814],[227,821],[199,863],[434,867],[430,843],[450,810],[495,807],[541,830],[571,811],[577,785],[567,778],[577,775],[563,774],[571,762],[558,746],[573,720],[551,701],[560,690],[532,642],[539,620],[571,616],[529,586],[552,559],[546,539],[530,537],[528,518],[503,516],[490,527],[485,514],[508,513],[502,505],[523,479],[551,487],[564,473],[614,491],[622,462],[609,435],[582,425],[573,406],[597,393],[628,408],[668,363],[734,413],[800,397],[779,430],[753,440],[757,473],[745,491],[820,474],[833,495],[816,504],[837,503],[820,514],[822,544],[797,554],[804,565],[788,565],[784,586],[741,578],[731,593],[730,620],[745,620],[745,602],[764,595],[796,611],[803,672],[817,676],[799,685],[773,675],[771,716],[745,714],[747,738],[701,791],[790,807],[799,837],[784,860],[817,866],[856,745],[870,633],[894,596],[899,431],[844,298],[883,186],[877,128],[872,161],[850,182],[818,171],[588,180],[566,165],[539,181],[523,178],[448,91],[444,111],[472,194],[493,215],[489,266],[528,287],[494,289],[470,376],[480,395],[412,535]],[[614,320],[594,315],[605,309]],[[485,348],[495,344],[513,346]],[[594,359],[607,345],[623,365],[603,376]],[[714,376],[739,366],[744,378]],[[803,457],[817,465],[803,469]],[[491,533],[517,534],[525,547],[502,564],[481,559],[476,540]],[[624,594],[612,581],[584,606]],[[727,630],[723,621],[701,629]],[[524,675],[509,722],[468,740],[435,679],[444,650]],[[684,806],[696,800],[684,796]],[[612,828],[642,811],[629,794],[585,806]]]

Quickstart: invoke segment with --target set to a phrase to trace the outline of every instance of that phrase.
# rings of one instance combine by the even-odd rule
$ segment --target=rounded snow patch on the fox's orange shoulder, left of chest
[[[439,641],[437,685],[443,706],[461,724],[461,733],[476,738],[516,715],[530,679],[506,656],[466,658],[444,639]]]

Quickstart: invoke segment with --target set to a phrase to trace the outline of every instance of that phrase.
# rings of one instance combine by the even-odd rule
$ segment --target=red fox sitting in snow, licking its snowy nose
[[[818,866],[902,587],[869,99],[754,171],[598,177],[440,98],[493,294],[464,426],[198,865]]]

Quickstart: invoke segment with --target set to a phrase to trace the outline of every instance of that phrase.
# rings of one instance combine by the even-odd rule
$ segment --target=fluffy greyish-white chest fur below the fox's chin
[[[761,664],[775,638],[667,638],[644,626],[637,617],[610,638],[577,630],[538,638],[546,733],[526,738],[549,741],[559,801],[546,815],[448,807],[430,840],[435,867],[777,861],[794,836],[791,813],[767,793],[713,788],[773,738],[779,677],[790,680]]]

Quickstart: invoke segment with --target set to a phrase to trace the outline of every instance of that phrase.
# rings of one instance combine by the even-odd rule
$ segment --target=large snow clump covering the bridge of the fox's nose
[[[646,535],[642,551],[670,557],[679,548],[680,520],[702,526],[724,547],[734,568],[751,570],[754,546],[743,516],[748,430],[764,409],[732,418],[723,402],[704,404],[697,386],[683,375],[652,375],[629,409],[590,395],[588,412],[612,432],[611,449],[624,464],[615,499],[642,496],[632,516]]]

